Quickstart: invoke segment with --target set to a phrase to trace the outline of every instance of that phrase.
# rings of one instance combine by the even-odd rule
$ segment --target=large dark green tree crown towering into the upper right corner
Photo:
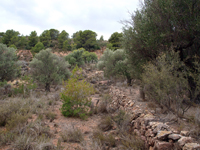
[[[198,0],[148,0],[131,14],[131,20],[123,22],[123,46],[138,78],[143,64],[171,50],[179,52],[180,60],[195,72],[193,58],[200,57],[199,7]],[[192,91],[196,91],[193,77],[188,81]]]

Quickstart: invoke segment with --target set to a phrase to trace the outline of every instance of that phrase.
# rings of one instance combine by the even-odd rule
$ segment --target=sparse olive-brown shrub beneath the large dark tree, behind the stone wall
[[[180,110],[184,114],[195,99],[189,99],[189,92],[192,89],[188,84],[188,77],[192,76],[197,83],[196,92],[192,97],[197,97],[199,93],[199,71],[196,71],[196,73],[192,73],[185,66],[180,60],[178,52],[164,53],[157,57],[154,63],[148,63],[144,66],[142,81],[145,92],[150,100],[155,100],[166,106],[176,115],[179,114]]]

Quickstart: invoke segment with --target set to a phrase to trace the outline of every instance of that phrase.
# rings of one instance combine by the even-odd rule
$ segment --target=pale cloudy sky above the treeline
[[[122,32],[121,20],[140,8],[139,0],[0,0],[0,32],[13,29],[23,35],[49,29],[92,30],[108,40]]]

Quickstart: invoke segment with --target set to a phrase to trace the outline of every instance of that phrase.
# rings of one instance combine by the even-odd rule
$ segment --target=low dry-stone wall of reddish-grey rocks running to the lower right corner
[[[176,131],[149,111],[144,102],[138,102],[139,90],[130,91],[120,85],[110,86],[111,108],[122,109],[131,116],[131,131],[145,141],[150,150],[200,150],[200,144],[189,131]]]

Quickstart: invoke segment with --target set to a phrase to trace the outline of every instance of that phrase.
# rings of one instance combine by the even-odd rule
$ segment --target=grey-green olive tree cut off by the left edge
[[[16,49],[0,43],[0,81],[11,80],[18,75]]]

